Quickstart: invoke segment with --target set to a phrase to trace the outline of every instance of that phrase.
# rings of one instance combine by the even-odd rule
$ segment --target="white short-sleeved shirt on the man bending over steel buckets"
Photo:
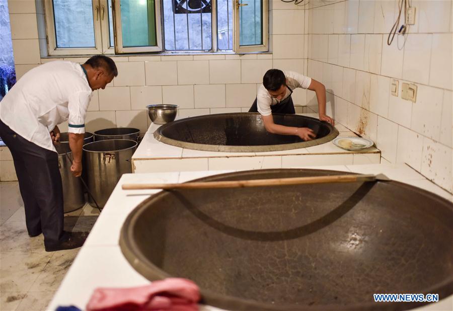
[[[25,139],[55,151],[49,132],[69,120],[68,132],[85,133],[91,96],[80,64],[51,61],[21,77],[0,103],[0,119]]]

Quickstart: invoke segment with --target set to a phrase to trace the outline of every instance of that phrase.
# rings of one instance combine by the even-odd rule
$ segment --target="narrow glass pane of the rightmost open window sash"
[[[239,8],[240,45],[263,44],[261,2],[261,0],[241,0],[241,4],[245,6]]]

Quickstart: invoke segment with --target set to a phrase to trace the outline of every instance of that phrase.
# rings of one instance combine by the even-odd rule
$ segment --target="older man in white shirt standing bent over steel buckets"
[[[24,74],[0,103],[0,137],[14,160],[30,237],[44,235],[46,251],[82,246],[84,235],[63,231],[63,190],[57,124],[68,120],[71,173],[82,174],[85,115],[92,92],[118,75],[114,61],[96,55],[83,65],[51,61]],[[75,233],[75,232],[74,232]]]

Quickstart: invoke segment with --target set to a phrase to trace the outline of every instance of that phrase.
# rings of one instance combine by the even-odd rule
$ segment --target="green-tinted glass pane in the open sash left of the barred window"
[[[123,47],[155,46],[154,0],[121,1],[121,30]]]

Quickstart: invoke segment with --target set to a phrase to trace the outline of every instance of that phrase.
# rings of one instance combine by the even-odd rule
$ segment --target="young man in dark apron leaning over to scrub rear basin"
[[[316,92],[319,107],[319,119],[334,124],[326,115],[326,88],[315,79],[293,71],[269,69],[263,76],[263,84],[258,88],[255,101],[249,112],[259,112],[264,126],[269,133],[296,135],[304,140],[312,140],[315,132],[308,127],[284,126],[274,123],[272,113],[294,114],[291,94],[295,88],[309,89]]]

